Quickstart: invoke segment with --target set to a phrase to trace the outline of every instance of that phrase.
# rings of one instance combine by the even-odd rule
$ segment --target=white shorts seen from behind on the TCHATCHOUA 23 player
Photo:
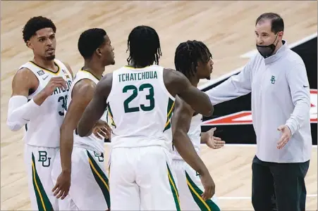
[[[111,211],[180,210],[171,161],[171,153],[161,146],[113,148]]]

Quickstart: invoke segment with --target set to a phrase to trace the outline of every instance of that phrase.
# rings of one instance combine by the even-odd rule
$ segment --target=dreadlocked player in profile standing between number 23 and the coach
[[[197,87],[200,79],[210,79],[213,69],[212,54],[202,41],[186,41],[176,49],[174,58],[176,70],[182,72]],[[220,210],[214,198],[203,200],[200,174],[186,163],[178,153],[178,144],[192,142],[200,155],[200,143],[207,143],[211,148],[220,148],[224,141],[213,136],[215,129],[201,133],[202,115],[196,113],[185,101],[176,97],[172,115],[173,130],[173,170],[178,180],[181,210]],[[184,140],[188,141],[184,141]]]

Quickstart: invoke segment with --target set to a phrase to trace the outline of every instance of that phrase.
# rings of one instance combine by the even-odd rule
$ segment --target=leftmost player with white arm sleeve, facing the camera
[[[56,27],[48,18],[33,17],[23,39],[34,58],[21,65],[12,81],[8,127],[25,126],[25,165],[32,210],[59,210],[51,193],[51,167],[59,150],[68,90],[73,82],[69,65],[55,59]]]

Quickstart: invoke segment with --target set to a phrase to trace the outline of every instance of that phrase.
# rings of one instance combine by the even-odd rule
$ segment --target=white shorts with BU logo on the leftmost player
[[[32,210],[59,210],[51,170],[59,148],[30,146],[25,144],[25,165]]]

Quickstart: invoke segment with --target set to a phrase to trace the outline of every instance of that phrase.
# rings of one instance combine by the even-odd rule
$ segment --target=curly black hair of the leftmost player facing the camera
[[[23,27],[23,40],[25,43],[30,40],[38,30],[42,30],[44,28],[51,28],[54,33],[56,32],[56,27],[49,18],[45,18],[43,16],[30,18]]]

